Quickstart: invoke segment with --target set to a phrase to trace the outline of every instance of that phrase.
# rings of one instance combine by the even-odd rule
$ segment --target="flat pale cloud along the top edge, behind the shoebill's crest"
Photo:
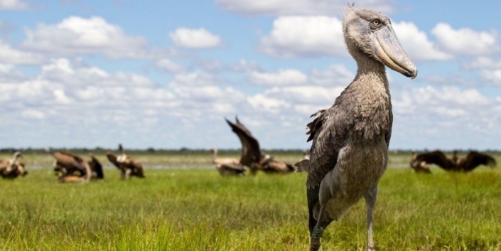
[[[223,9],[244,15],[336,15],[342,14],[346,1],[325,0],[215,0]],[[362,0],[357,1],[357,7],[375,9],[388,14],[395,10],[393,1]]]

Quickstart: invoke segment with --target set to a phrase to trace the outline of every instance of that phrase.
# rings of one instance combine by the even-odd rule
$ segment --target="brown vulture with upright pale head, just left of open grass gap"
[[[131,156],[127,156],[124,152],[122,144],[118,145],[120,154],[117,156],[111,152],[107,152],[106,156],[110,162],[112,162],[117,169],[120,170],[120,178],[131,178],[131,176],[136,176],[139,178],[144,178],[143,165],[141,162],[132,159]]]

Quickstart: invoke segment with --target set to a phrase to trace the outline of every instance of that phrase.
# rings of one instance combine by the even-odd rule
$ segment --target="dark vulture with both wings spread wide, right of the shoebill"
[[[453,156],[449,157],[442,151],[436,150],[429,153],[419,154],[416,161],[425,161],[428,164],[436,164],[446,171],[473,171],[480,165],[495,168],[497,163],[492,156],[481,154],[478,151],[470,151],[468,155],[458,158],[458,151],[453,151]]]

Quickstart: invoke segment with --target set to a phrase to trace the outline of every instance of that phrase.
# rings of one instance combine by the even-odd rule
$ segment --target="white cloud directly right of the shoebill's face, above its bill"
[[[411,60],[451,60],[453,55],[438,49],[435,44],[428,40],[424,31],[411,22],[393,23],[393,28],[404,50]]]

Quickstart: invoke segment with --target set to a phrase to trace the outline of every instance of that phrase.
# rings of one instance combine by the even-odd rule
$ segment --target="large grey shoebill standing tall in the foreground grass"
[[[384,66],[409,78],[417,75],[391,21],[378,11],[349,4],[343,34],[357,74],[332,107],[311,116],[316,116],[306,133],[308,141],[313,140],[311,159],[296,164],[298,171],[308,171],[311,250],[320,248],[320,237],[329,223],[362,197],[367,205],[367,250],[374,250],[372,209],[379,178],[387,168],[393,122]]]

